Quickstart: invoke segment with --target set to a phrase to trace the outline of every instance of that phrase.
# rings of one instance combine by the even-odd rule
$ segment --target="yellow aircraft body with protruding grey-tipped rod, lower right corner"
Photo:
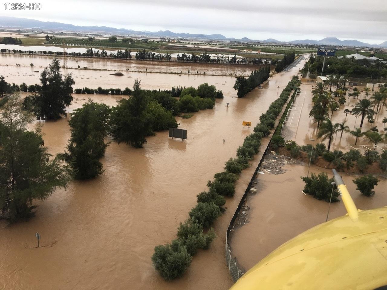
[[[347,215],[278,247],[230,290],[372,290],[387,285],[387,207],[353,212],[350,201],[345,204]]]

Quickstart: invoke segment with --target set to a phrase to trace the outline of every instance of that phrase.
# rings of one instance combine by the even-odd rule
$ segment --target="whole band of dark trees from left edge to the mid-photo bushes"
[[[40,81],[36,93],[25,97],[21,106],[19,93],[0,77],[0,217],[11,221],[33,216],[33,200],[47,198],[71,178],[102,174],[99,159],[109,144],[106,137],[141,148],[146,136],[177,128],[175,116],[180,112],[211,109],[221,92],[207,83],[197,88],[178,87],[178,100],[170,92],[142,90],[135,80],[130,97],[117,106],[89,100],[70,113],[71,136],[66,150],[51,156],[44,147],[41,128],[31,131],[27,126],[34,118],[57,120],[67,116],[74,80],[71,75],[62,76],[59,61],[54,59],[41,73]]]

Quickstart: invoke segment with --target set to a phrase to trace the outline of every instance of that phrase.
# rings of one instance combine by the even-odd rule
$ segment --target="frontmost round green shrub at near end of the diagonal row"
[[[187,248],[179,240],[156,246],[152,256],[154,267],[165,280],[182,276],[191,264],[191,260],[192,257],[188,254]]]

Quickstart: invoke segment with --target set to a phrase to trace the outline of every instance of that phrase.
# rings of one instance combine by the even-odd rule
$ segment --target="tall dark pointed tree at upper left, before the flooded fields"
[[[57,120],[67,116],[66,107],[72,102],[72,86],[75,84],[71,75],[62,78],[59,60],[53,61],[41,73],[41,86],[36,94],[26,97],[25,102],[31,102],[31,110],[38,119]]]

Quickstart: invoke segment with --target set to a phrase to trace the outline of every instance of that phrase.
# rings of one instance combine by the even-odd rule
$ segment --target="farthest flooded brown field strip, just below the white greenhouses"
[[[62,49],[63,50],[63,49]],[[8,53],[0,54],[0,66],[2,74],[12,76],[24,76],[34,75],[39,76],[39,73],[34,71],[43,70],[48,63],[51,62],[53,56],[29,56],[29,55],[14,55]],[[58,59],[62,63],[62,57],[58,56]],[[20,64],[20,67],[16,67],[16,63]],[[30,67],[30,63],[34,64],[34,67]],[[88,75],[92,73],[91,70],[110,70],[110,71],[122,71],[124,73],[129,72],[126,76],[131,76],[132,72],[157,72],[157,73],[182,73],[187,74],[188,70],[190,74],[207,74],[207,75],[250,75],[252,70],[258,69],[260,65],[228,65],[228,64],[205,64],[205,63],[186,63],[177,61],[139,61],[134,60],[115,60],[115,59],[103,59],[103,58],[85,58],[85,57],[67,57],[67,67],[77,68],[79,65],[82,69],[67,69],[64,70],[67,73],[72,72],[74,75],[82,74]],[[3,67],[5,66],[5,67]],[[84,70],[87,67],[89,70]],[[100,72],[103,75],[108,76],[108,71]],[[91,76],[89,76],[91,78]],[[17,84],[21,83],[18,81]],[[27,82],[26,82],[27,84]]]

